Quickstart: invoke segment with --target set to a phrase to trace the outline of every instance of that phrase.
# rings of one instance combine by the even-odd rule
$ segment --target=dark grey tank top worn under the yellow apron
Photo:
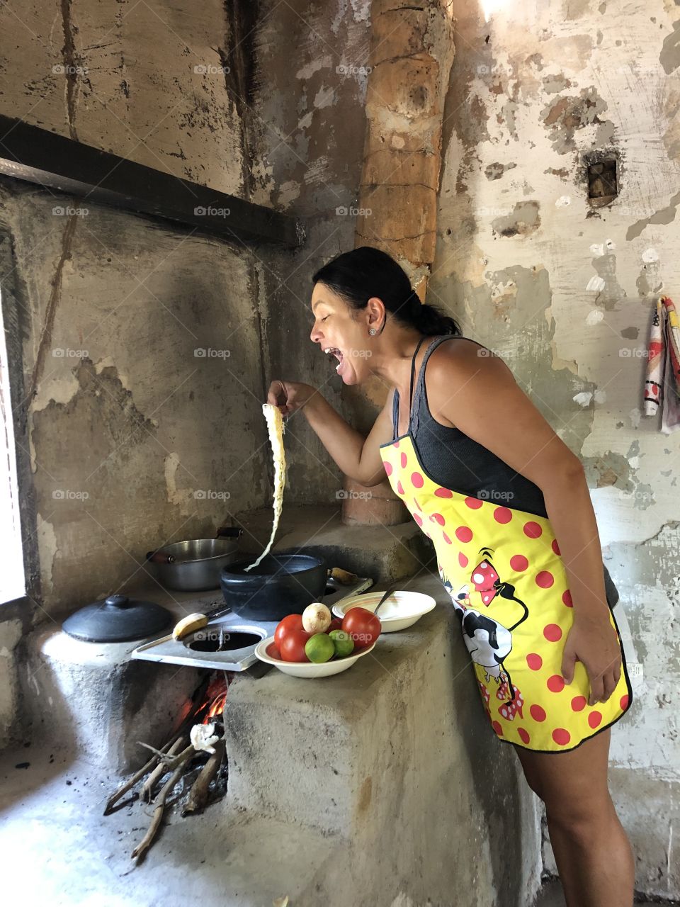
[[[539,486],[530,482],[521,473],[516,473],[508,463],[492,453],[483,444],[478,444],[459,428],[449,427],[437,422],[430,412],[425,387],[425,369],[432,353],[445,340],[469,339],[447,334],[437,337],[423,337],[416,346],[411,363],[410,397],[413,398],[409,429],[413,446],[423,465],[424,471],[433,482],[482,501],[507,504],[516,510],[548,517],[543,493]],[[423,356],[423,364],[418,374],[413,392],[415,358],[423,341],[429,341]],[[472,343],[477,343],[473,340]],[[482,349],[487,347],[481,346]],[[399,391],[394,390],[393,402],[393,437],[396,440],[399,431]],[[407,429],[408,430],[408,429]],[[607,567],[604,568],[605,591],[607,602],[613,608],[618,601],[617,587],[614,585]]]

